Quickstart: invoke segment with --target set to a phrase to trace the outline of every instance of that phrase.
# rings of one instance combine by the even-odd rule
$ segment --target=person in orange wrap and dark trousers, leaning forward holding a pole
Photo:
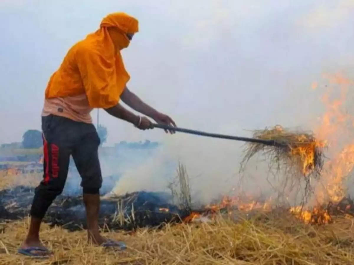
[[[42,110],[44,176],[35,189],[29,231],[19,253],[31,256],[49,254],[39,240],[39,228],[48,207],[63,191],[70,155],[81,176],[88,240],[101,246],[126,247],[123,242],[115,242],[99,234],[100,139],[90,112],[93,108],[103,108],[138,129],[152,128],[147,117],[137,116],[122,107],[119,104],[121,99],[157,123],[176,126],[169,116],[145,104],[126,87],[130,76],[120,51],[129,46],[137,32],[138,21],[135,18],[125,13],[109,14],[95,33],[69,50],[62,65],[51,76]]]

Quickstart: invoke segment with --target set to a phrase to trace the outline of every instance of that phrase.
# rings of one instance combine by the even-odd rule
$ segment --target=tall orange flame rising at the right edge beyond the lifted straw
[[[315,187],[312,204],[343,199],[347,192],[344,182],[354,167],[354,116],[346,109],[349,87],[354,82],[340,74],[325,77],[331,86],[322,96],[326,112],[315,134],[329,142],[331,159],[323,166],[321,183]],[[348,103],[351,104],[349,100]]]

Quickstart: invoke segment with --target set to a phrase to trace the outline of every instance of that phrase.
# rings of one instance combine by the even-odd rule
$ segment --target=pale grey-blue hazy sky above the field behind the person
[[[0,143],[40,129],[50,75],[116,11],[139,20],[123,51],[128,87],[182,127],[248,136],[308,126],[318,111],[311,83],[354,69],[354,0],[0,0]],[[108,144],[167,139],[101,114]]]

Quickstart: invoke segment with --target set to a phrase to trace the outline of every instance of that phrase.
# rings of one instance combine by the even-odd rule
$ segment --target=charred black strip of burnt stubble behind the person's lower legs
[[[0,221],[21,219],[29,215],[34,188],[17,186],[0,191]],[[190,211],[169,203],[171,195],[135,192],[101,199],[99,224],[109,229],[134,230],[180,222]],[[86,228],[85,207],[81,196],[59,195],[47,211],[44,222],[75,231]]]

